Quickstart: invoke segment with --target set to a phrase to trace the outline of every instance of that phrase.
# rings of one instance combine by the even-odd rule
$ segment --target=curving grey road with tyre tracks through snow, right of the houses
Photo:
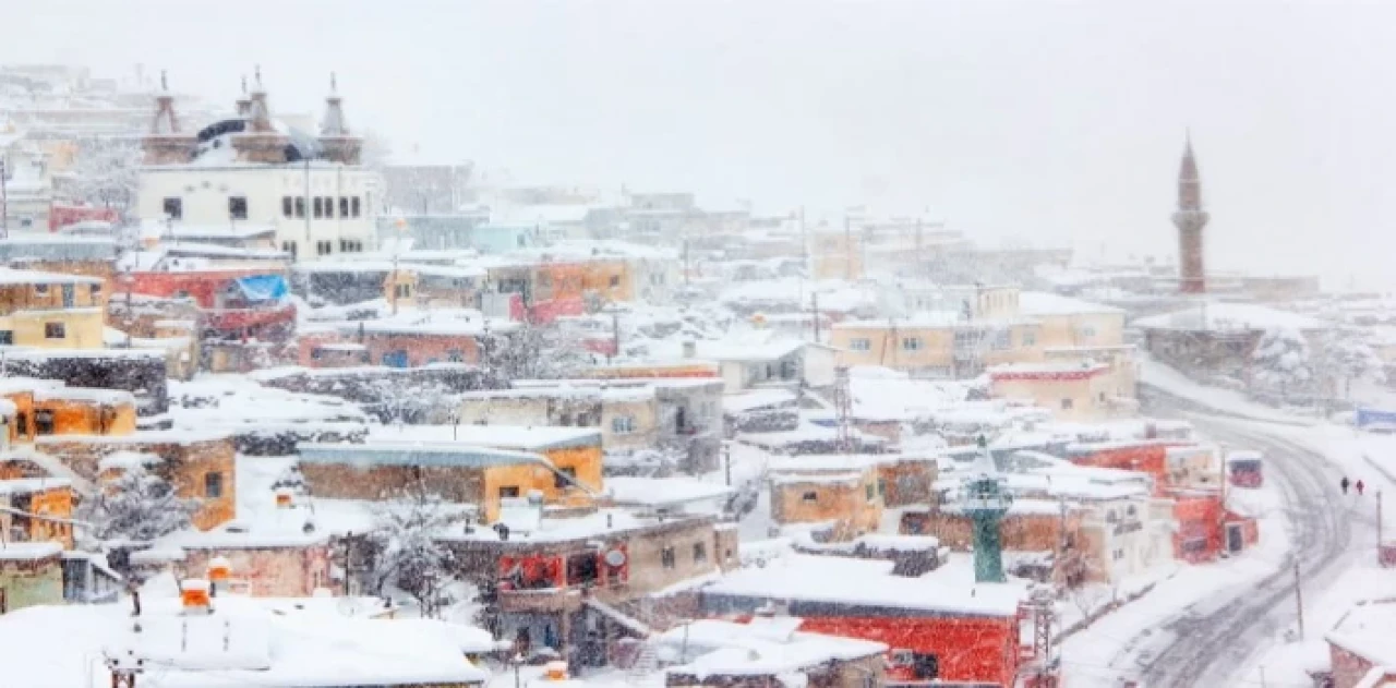
[[[1343,569],[1340,562],[1350,554],[1351,529],[1337,474],[1323,456],[1284,438],[1265,421],[1222,414],[1156,388],[1142,396],[1150,416],[1181,417],[1210,440],[1263,451],[1266,479],[1282,488],[1293,543],[1286,564],[1240,594],[1231,590],[1189,606],[1159,629],[1163,632],[1157,636],[1167,638],[1167,645],[1135,657],[1149,688],[1226,685],[1277,629],[1294,624],[1294,553],[1305,586],[1322,583]]]

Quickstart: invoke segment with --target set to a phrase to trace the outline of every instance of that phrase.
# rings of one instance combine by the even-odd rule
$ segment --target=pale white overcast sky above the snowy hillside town
[[[1173,255],[1191,127],[1217,268],[1385,278],[1396,3],[0,0],[0,61],[272,107],[518,181],[930,208],[986,243]],[[811,211],[812,212],[812,211]],[[1396,278],[1382,281],[1396,286]]]

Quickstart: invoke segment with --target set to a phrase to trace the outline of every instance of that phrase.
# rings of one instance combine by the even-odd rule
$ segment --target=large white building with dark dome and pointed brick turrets
[[[363,141],[345,124],[342,99],[325,99],[318,135],[274,120],[258,75],[237,116],[197,134],[180,127],[162,92],[144,138],[137,212],[172,226],[275,227],[276,247],[317,258],[371,248],[380,179],[359,163]]]

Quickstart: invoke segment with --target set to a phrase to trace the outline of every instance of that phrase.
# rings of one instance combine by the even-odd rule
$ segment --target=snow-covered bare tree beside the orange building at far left
[[[197,508],[197,500],[179,497],[163,477],[133,465],[82,500],[77,519],[91,523],[85,537],[96,543],[148,543],[190,528]]]

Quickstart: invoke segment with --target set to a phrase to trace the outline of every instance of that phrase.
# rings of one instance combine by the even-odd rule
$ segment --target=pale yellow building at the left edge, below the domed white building
[[[99,349],[105,299],[98,278],[0,268],[0,345]]]

